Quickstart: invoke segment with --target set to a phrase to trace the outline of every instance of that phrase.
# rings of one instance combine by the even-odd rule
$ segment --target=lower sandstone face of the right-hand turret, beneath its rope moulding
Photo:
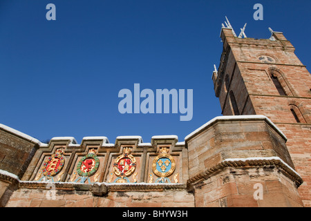
[[[261,188],[262,198],[254,198]],[[302,207],[296,186],[277,166],[225,168],[194,184],[198,207]]]

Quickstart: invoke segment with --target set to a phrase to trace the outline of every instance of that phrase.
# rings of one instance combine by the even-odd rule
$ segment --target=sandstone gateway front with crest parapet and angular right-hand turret
[[[22,178],[0,171],[1,206],[303,206],[297,192],[303,180],[286,140],[262,115],[216,117],[185,142],[173,135],[154,136],[151,143],[117,137],[114,144],[106,137],[84,137],[81,144],[54,137],[38,143]],[[83,177],[81,162],[88,159],[97,167]],[[133,173],[117,173],[122,159],[135,162]],[[153,166],[159,159],[175,163],[162,178]],[[48,169],[54,160],[59,164]],[[263,199],[256,200],[258,184]]]

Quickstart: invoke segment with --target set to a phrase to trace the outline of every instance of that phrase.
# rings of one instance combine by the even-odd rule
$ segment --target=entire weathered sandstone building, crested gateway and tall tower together
[[[241,39],[222,28],[220,37],[212,79],[225,116],[185,142],[168,135],[42,144],[0,124],[0,206],[311,206],[310,73],[280,32]]]

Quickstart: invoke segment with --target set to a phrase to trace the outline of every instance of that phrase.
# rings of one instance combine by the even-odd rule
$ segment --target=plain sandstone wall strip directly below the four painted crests
[[[57,184],[55,198],[47,184],[21,183],[8,207],[193,207],[194,195],[185,185],[130,184],[105,186],[104,192],[94,185]],[[103,186],[104,184],[102,184]],[[102,194],[102,195],[101,195]]]

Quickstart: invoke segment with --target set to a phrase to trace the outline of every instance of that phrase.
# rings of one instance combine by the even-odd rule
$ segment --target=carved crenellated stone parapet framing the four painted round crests
[[[73,137],[54,137],[49,144],[40,146],[22,180],[46,181],[45,179],[48,178],[53,179],[54,182],[85,184],[120,181],[154,183],[160,176],[154,173],[153,163],[164,149],[167,157],[163,159],[171,157],[173,161],[168,165],[172,167],[171,173],[164,175],[166,182],[185,183],[188,179],[188,166],[187,160],[183,159],[187,159],[187,150],[185,143],[178,142],[176,136],[154,136],[151,143],[143,143],[139,136],[124,136],[117,137],[115,144],[109,143],[106,137],[84,137],[81,144],[75,144]],[[44,175],[44,165],[60,150],[62,153],[59,155],[63,157],[63,165],[59,166],[59,171],[55,175]],[[84,159],[90,158],[87,157],[88,155],[93,155],[97,159],[97,169],[92,174],[82,175],[79,167],[82,166]],[[123,176],[116,173],[116,164],[122,159],[128,159],[132,163],[135,161],[132,166],[133,171]],[[83,180],[84,178],[86,180]]]

